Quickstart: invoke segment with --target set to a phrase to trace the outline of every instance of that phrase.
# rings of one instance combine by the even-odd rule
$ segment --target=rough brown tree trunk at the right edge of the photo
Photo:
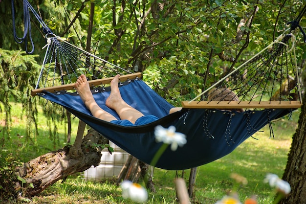
[[[292,137],[287,165],[283,180],[291,185],[291,193],[282,204],[306,204],[306,93],[298,122],[298,128]]]

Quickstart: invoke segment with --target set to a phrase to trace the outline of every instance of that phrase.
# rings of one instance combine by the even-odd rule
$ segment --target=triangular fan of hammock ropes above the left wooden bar
[[[47,39],[45,47],[46,53],[35,90],[73,84],[81,74],[85,74],[90,80],[109,78],[116,74],[132,74],[131,71],[82,50],[54,34]]]

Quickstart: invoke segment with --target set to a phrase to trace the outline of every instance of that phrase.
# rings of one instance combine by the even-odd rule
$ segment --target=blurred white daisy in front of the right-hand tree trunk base
[[[291,192],[290,184],[287,181],[280,179],[276,174],[267,174],[264,182],[268,182],[271,187],[275,187],[277,191],[288,195]]]

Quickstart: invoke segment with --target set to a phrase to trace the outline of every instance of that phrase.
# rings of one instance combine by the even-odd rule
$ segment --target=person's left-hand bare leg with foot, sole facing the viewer
[[[113,115],[101,109],[96,101],[94,100],[92,93],[89,88],[86,76],[82,74],[75,83],[75,89],[78,91],[81,99],[83,100],[85,106],[92,113],[94,117],[97,117],[101,120],[112,121],[117,120]]]

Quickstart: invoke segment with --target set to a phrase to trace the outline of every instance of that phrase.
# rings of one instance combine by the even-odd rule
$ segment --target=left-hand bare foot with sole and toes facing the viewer
[[[74,84],[75,89],[78,91],[82,101],[85,103],[88,108],[90,103],[94,102],[94,98],[89,88],[87,78],[84,74],[79,76],[76,83]]]

